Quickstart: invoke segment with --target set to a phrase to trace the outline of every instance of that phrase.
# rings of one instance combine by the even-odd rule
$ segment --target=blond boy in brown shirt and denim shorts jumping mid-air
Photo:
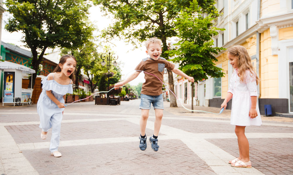
[[[160,57],[162,53],[161,48],[162,41],[156,37],[150,38],[146,41],[145,46],[147,48],[146,53],[149,55],[148,58],[144,58],[135,68],[135,71],[132,75],[130,75],[126,80],[116,83],[115,87],[123,86],[124,84],[134,80],[140,71],[145,71],[150,74],[154,74],[161,81],[163,81],[164,68],[166,67],[168,70],[171,70],[177,75],[183,76],[191,82],[194,82],[193,77],[187,76],[182,71],[177,68],[174,68],[175,65],[171,62],[168,62],[165,58]],[[155,110],[155,123],[154,123],[154,134],[149,138],[151,143],[151,148],[154,151],[159,150],[158,145],[158,134],[160,131],[162,117],[163,117],[163,96],[162,96],[162,86],[161,81],[153,75],[144,74],[145,82],[142,85],[141,91],[141,101],[139,108],[142,109],[141,118],[139,121],[140,126],[140,142],[139,148],[144,151],[147,148],[147,136],[145,134],[145,129],[147,125],[147,119],[149,118],[149,109],[151,108],[151,103],[154,106]]]

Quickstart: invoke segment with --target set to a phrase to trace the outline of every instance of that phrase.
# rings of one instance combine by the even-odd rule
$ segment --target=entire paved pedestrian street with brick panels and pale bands
[[[1,106],[0,174],[293,174],[293,119],[262,117],[260,127],[246,127],[253,168],[234,168],[238,156],[230,110],[221,115],[165,110],[159,151],[139,145],[140,100],[121,105],[74,103],[66,107],[59,151],[50,155],[48,138],[40,138],[36,105]],[[179,104],[178,104],[179,105]],[[190,106],[186,106],[190,108]],[[195,109],[219,112],[219,108]],[[146,134],[154,128],[151,108]]]

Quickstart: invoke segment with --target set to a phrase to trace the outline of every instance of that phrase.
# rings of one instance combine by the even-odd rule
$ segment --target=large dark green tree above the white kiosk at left
[[[79,48],[92,36],[88,1],[6,0],[5,4],[13,15],[5,29],[24,34],[23,42],[33,54],[32,68],[36,72],[47,48]],[[36,76],[33,74],[30,82],[33,86]]]

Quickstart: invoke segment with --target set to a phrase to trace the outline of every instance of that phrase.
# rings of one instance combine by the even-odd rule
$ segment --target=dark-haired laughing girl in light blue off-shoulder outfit
[[[60,142],[60,129],[62,114],[64,111],[65,97],[67,93],[72,94],[72,80],[76,67],[76,59],[71,55],[61,57],[59,64],[42,81],[42,93],[39,97],[37,110],[40,115],[41,138],[47,138],[47,132],[52,127],[50,141],[51,155],[61,157],[58,151]]]

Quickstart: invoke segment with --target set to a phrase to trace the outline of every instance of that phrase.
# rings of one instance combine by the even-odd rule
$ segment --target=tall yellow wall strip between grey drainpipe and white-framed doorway
[[[279,98],[278,56],[272,56],[270,29],[260,34],[260,98]]]

